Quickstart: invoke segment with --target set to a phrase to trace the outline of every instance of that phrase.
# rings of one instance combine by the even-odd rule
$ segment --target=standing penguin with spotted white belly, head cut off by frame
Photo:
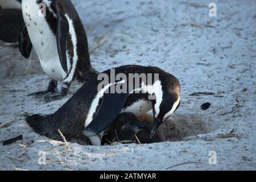
[[[56,93],[57,82],[63,82],[57,96],[68,94],[74,78],[88,81],[98,72],[90,64],[84,26],[70,0],[22,0],[24,24],[20,32],[19,49],[26,58],[32,47],[39,57],[43,71],[51,78],[48,89],[29,96]]]

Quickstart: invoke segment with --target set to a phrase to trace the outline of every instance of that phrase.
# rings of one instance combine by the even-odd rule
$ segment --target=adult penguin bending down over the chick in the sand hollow
[[[113,74],[116,77],[112,80]],[[152,82],[139,79],[138,85],[131,84],[131,92],[119,92],[118,88],[125,88],[125,84],[133,82],[133,78],[129,79],[130,75],[142,74],[156,75],[157,79]],[[110,78],[110,81],[102,81],[105,80],[103,78]],[[119,114],[133,113],[138,117],[153,110],[152,138],[158,127],[171,117],[179,105],[180,82],[175,76],[157,67],[124,65],[108,69],[86,82],[55,113],[32,115],[26,117],[26,122],[39,134],[54,138],[58,135],[57,129],[61,129],[65,135],[78,132],[88,137],[93,145],[100,146],[105,130],[109,129]]]

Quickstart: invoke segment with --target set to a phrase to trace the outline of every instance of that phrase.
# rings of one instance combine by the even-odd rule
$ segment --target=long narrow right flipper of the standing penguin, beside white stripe
[[[63,13],[63,5],[60,1],[55,2],[57,14],[57,49],[60,57],[60,63],[64,71],[68,72],[67,66],[67,37],[69,34],[68,19]]]

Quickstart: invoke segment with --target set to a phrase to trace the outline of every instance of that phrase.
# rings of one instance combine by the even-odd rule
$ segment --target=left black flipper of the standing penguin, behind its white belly
[[[30,36],[28,35],[26,24],[23,23],[22,30],[19,35],[19,51],[22,53],[26,59],[30,57],[32,50],[32,43],[30,41]]]

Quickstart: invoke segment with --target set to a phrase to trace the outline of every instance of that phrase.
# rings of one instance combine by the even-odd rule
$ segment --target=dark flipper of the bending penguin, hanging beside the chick
[[[93,137],[104,131],[121,112],[129,93],[104,93],[103,101],[92,122],[85,128],[86,137]]]

